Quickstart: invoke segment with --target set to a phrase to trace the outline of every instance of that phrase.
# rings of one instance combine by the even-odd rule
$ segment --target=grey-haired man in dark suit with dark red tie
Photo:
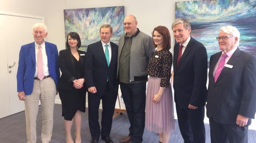
[[[188,20],[177,18],[172,23],[172,31],[177,41],[173,54],[173,88],[180,132],[184,143],[204,143],[206,49],[190,36]]]

